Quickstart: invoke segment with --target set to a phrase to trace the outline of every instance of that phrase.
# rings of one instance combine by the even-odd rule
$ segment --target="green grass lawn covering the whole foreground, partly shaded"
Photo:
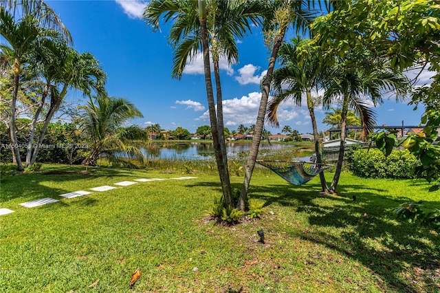
[[[1,175],[1,207],[16,211],[0,216],[2,292],[440,292],[439,235],[386,211],[419,199],[440,208],[439,193],[428,193],[423,180],[343,173],[338,195],[320,196],[318,177],[292,186],[257,171],[250,195],[266,203],[263,218],[222,226],[206,218],[221,195],[217,175],[62,199],[124,180],[187,175],[104,168],[44,175],[49,169],[84,167]],[[231,180],[241,187],[242,177]],[[61,200],[19,206],[42,197]]]

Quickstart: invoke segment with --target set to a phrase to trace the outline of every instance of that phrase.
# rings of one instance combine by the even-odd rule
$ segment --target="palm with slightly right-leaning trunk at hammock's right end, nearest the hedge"
[[[360,54],[352,52],[347,54],[347,58],[336,63],[331,70],[331,78],[327,80],[324,95],[325,105],[330,105],[333,100],[339,100],[342,104],[341,110],[341,135],[340,151],[338,164],[336,165],[335,175],[330,186],[330,192],[336,193],[342,162],[344,160],[344,146],[347,130],[347,114],[349,109],[360,114],[362,120],[363,133],[371,130],[373,123],[367,119],[368,111],[365,98],[371,99],[373,105],[382,102],[382,90],[394,91],[396,99],[404,98],[408,92],[409,81],[401,72],[391,69],[389,62],[381,59],[373,62],[364,63]]]

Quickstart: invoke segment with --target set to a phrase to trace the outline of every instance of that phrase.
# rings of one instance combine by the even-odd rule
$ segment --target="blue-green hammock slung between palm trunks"
[[[309,182],[313,177],[331,167],[329,164],[316,164],[301,161],[262,161],[258,164],[274,171],[278,176],[294,185],[301,185]]]

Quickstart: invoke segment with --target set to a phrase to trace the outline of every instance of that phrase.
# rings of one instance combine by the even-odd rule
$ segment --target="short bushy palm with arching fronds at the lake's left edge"
[[[144,162],[144,153],[135,146],[136,140],[146,140],[146,133],[137,126],[122,127],[129,119],[143,117],[128,100],[107,95],[96,96],[80,108],[83,120],[80,129],[89,138],[89,154],[85,165],[96,165],[98,159],[111,164],[134,166],[126,160]]]

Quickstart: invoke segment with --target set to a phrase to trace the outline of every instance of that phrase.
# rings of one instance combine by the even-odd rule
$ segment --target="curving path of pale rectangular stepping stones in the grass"
[[[174,177],[174,178],[170,178],[173,180],[188,180],[188,179],[196,179],[197,177]],[[164,178],[139,178],[139,179],[135,179],[133,181],[122,181],[122,182],[116,182],[113,183],[113,185],[117,185],[117,186],[130,186],[133,184],[137,184],[139,182],[151,182],[151,181],[162,181],[162,180],[166,180]],[[94,188],[89,188],[89,190],[91,191],[109,191],[111,189],[115,189],[117,187],[114,186],[108,186],[108,185],[104,185],[104,186],[98,186],[98,187],[94,187]],[[74,197],[80,197],[83,195],[89,195],[91,194],[91,192],[89,191],[74,191],[72,193],[64,193],[62,195],[60,195],[61,197],[65,197],[67,199],[71,199]],[[58,199],[53,199],[50,197],[45,197],[42,199],[36,199],[36,200],[32,200],[31,202],[23,202],[22,204],[19,204],[20,206],[25,206],[26,208],[34,208],[36,206],[43,206],[45,204],[51,204],[52,202],[59,202]],[[15,213],[14,210],[10,210],[9,208],[0,208],[0,215],[8,215],[10,213]]]

